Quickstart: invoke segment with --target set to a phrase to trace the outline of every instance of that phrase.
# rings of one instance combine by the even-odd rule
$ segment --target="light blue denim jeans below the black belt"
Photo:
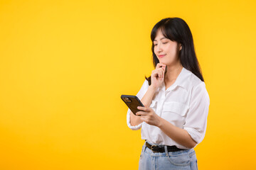
[[[165,150],[164,153],[154,153],[144,144],[139,158],[139,170],[198,169],[196,152],[193,148],[177,152],[168,152],[167,148]]]

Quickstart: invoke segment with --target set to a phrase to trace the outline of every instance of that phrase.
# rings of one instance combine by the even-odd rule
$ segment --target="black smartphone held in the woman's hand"
[[[140,111],[137,107],[138,106],[142,106],[144,107],[144,105],[142,104],[142,102],[139,100],[139,98],[137,96],[132,96],[132,95],[122,95],[121,96],[122,101],[124,101],[124,103],[128,106],[128,108],[132,111],[132,113],[134,113],[134,115],[136,115],[136,113],[138,111]]]

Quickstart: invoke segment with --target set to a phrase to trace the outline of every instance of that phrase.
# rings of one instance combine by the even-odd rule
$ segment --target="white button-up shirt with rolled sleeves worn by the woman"
[[[149,88],[145,80],[137,97],[141,100]],[[151,101],[150,108],[161,118],[169,121],[178,128],[187,130],[197,145],[202,142],[206,135],[207,116],[210,98],[206,91],[206,84],[189,70],[183,69],[174,84],[166,89],[161,84]],[[181,149],[188,149],[178,144],[162,132],[158,127],[145,122],[132,126],[130,124],[130,110],[127,111],[127,125],[132,130],[142,128],[142,140],[148,140],[157,145],[176,145]]]

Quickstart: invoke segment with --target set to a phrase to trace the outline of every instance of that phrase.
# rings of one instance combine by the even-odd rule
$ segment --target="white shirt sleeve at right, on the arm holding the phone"
[[[183,129],[191,135],[197,145],[202,142],[206,135],[209,106],[210,98],[206,91],[206,84],[202,82],[192,90],[191,104],[186,117],[186,123],[183,125]]]

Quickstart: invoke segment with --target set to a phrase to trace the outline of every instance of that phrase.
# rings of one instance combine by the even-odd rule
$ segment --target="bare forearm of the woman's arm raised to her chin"
[[[154,97],[154,94],[156,92],[156,88],[154,88],[153,86],[149,86],[149,89],[146,91],[146,94],[144,94],[143,98],[142,98],[142,104],[144,106],[150,106],[152,98]],[[140,118],[140,116],[134,115],[134,113],[130,113],[130,120],[131,120],[131,125],[139,125],[140,123],[142,123],[142,120]]]

